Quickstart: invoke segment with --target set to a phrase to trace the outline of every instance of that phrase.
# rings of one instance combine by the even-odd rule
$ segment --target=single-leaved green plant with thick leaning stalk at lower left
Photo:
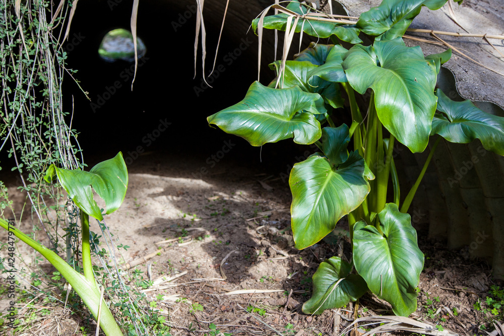
[[[105,201],[106,214],[117,210],[124,199],[128,187],[128,171],[119,152],[113,159],[98,163],[89,172],[57,168],[52,164],[47,170],[45,180],[50,183],[57,177],[58,182],[68,192],[70,198],[80,209],[82,228],[82,269],[84,275],[75,271],[65,260],[54,251],[49,250],[34,241],[18,229],[14,229],[16,237],[30,245],[42,254],[81,297],[93,316],[99,321],[100,327],[107,336],[122,336],[122,332],[114,320],[93,275],[91,264],[91,249],[89,240],[89,216],[99,221],[103,220],[100,208],[93,199],[96,193]],[[0,226],[8,230],[8,223],[0,219]],[[13,227],[9,227],[13,230]],[[99,316],[98,316],[99,315]]]

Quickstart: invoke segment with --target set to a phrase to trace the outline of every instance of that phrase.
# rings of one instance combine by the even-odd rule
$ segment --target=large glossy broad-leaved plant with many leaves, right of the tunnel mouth
[[[290,172],[295,246],[319,242],[347,215],[353,257],[347,262],[334,256],[320,264],[312,278],[312,297],[302,307],[307,314],[345,306],[368,290],[389,302],[397,315],[415,311],[424,255],[407,211],[437,144],[441,138],[464,144],[479,139],[486,150],[504,155],[504,118],[470,101],[452,101],[436,89],[440,65],[451,50],[424,56],[420,47],[403,42],[422,6],[436,10],[446,2],[384,0],[354,24],[325,20],[297,1],[276,6],[281,14],[254,20],[255,31],[286,31],[286,40],[302,31],[334,44],[311,44],[294,60],[271,63],[276,80],[268,86],[254,82],[242,101],[207,119],[252,146],[294,138],[296,144],[319,148]],[[359,34],[372,44],[364,45]],[[361,110],[356,96],[368,89],[368,106]],[[352,121],[337,126],[331,114],[344,100]],[[430,137],[437,139],[400,204],[394,143],[419,153]]]

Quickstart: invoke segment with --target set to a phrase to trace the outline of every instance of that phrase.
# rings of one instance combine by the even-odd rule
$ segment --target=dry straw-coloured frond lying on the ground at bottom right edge
[[[434,335],[434,336],[460,336],[460,334],[450,331],[448,329],[439,330],[435,325],[427,324],[414,320],[409,317],[403,316],[369,316],[361,317],[348,325],[341,333],[340,336],[354,328],[357,323],[364,322],[360,326],[369,326],[373,324],[381,324],[361,336],[370,336],[374,333],[385,333],[394,331],[410,331],[420,334]],[[383,324],[382,324],[383,323]]]

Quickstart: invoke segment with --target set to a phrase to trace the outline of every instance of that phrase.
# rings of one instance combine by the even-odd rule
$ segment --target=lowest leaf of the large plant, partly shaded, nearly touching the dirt
[[[321,262],[313,275],[313,294],[303,304],[303,313],[320,315],[324,309],[341,308],[364,295],[366,282],[357,274],[349,274],[351,270],[350,264],[340,257]]]

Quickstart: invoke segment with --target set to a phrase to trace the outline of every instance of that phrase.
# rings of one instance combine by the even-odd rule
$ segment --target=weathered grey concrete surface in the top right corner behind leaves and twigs
[[[450,0],[452,1],[452,0]],[[349,14],[358,16],[360,13],[378,6],[380,0],[341,0]],[[502,0],[464,0],[461,6],[452,3],[457,21],[468,32],[473,34],[503,35],[504,34],[504,2]],[[456,33],[465,31],[449,17],[448,5],[437,11],[423,7],[411,24],[411,28],[431,29]],[[429,34],[408,33],[416,37],[431,39]],[[504,56],[499,54],[488,43],[476,37],[454,37],[438,35],[466,55],[504,75]],[[446,50],[433,44],[421,43],[405,39],[409,46],[420,45],[424,54]],[[504,41],[490,39],[490,42],[504,54]],[[504,107],[504,76],[484,69],[478,64],[454,53],[452,59],[445,64],[457,80],[457,89],[462,97],[470,100],[490,101]]]

